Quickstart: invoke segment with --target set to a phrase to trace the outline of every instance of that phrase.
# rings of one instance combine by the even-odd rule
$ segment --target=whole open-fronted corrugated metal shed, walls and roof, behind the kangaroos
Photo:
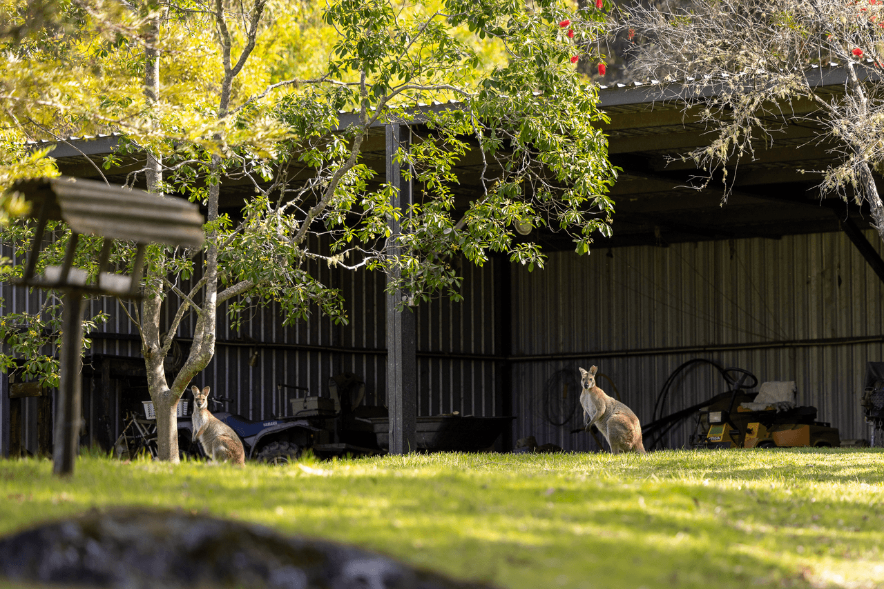
[[[820,70],[820,82],[837,90],[843,73]],[[610,393],[615,386],[647,420],[674,368],[703,357],[746,368],[763,381],[796,380],[799,401],[817,406],[819,419],[841,427],[842,437],[866,437],[857,395],[865,361],[882,354],[881,282],[869,269],[873,261],[864,260],[840,229],[845,222],[868,227],[867,212],[820,200],[819,175],[804,173],[825,167],[827,148],[801,139],[803,127],[789,127],[777,140],[783,148],[759,149],[758,161],[740,163],[739,190],[722,207],[717,186],[686,187],[697,174],[692,162],[672,161],[705,145],[708,136],[696,113],[682,112],[671,89],[607,88],[600,97],[611,116],[602,125],[609,155],[622,168],[611,193],[617,202],[613,238],[598,238],[603,249],[578,257],[568,251],[570,238],[544,233],[539,239],[550,253],[544,271],[529,274],[499,259],[466,267],[466,301],[419,306],[418,412],[512,412],[516,436],[590,449],[588,434],[570,434],[581,423],[574,407],[577,366],[598,364],[611,381],[599,378],[603,388]],[[378,170],[382,135],[372,135],[363,153]],[[82,173],[90,170],[83,165],[88,156],[106,155],[115,141],[83,140],[54,155],[62,168]],[[469,175],[469,168],[459,173]],[[109,171],[111,181],[125,176],[124,169]],[[475,195],[469,183],[460,189],[462,213]],[[223,196],[239,207],[242,191],[251,190],[225,185]],[[872,231],[866,236],[880,252],[880,238]],[[363,376],[370,398],[383,401],[383,276],[317,271],[344,292],[349,326],[315,315],[283,328],[275,306],[257,308],[241,332],[219,328],[217,357],[199,384],[233,396],[235,411],[253,418],[286,410],[278,383],[326,395],[329,377],[341,372]],[[42,295],[7,289],[0,284],[7,305],[39,308]],[[111,315],[92,352],[137,356],[137,334],[124,315]],[[187,322],[179,328],[182,344],[191,328]],[[667,410],[725,388],[705,367],[675,384]],[[568,423],[550,424],[562,419]],[[675,430],[667,442],[681,446],[687,434]]]

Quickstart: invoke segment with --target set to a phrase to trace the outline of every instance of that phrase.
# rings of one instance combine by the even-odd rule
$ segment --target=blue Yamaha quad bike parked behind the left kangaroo
[[[321,437],[323,429],[308,419],[284,417],[278,419],[252,420],[223,411],[233,399],[225,396],[210,397],[212,414],[225,422],[240,436],[246,457],[271,464],[282,464],[301,456],[301,451],[313,446]],[[193,424],[187,419],[179,420],[178,444],[182,455],[205,457],[199,442],[193,439]]]

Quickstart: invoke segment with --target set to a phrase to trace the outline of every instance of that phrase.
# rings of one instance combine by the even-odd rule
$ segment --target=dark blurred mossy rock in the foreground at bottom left
[[[90,510],[0,540],[0,573],[91,587],[480,589],[383,555],[184,511]]]

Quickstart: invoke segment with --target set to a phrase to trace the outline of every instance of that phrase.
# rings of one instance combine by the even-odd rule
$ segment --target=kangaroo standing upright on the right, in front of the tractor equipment
[[[636,414],[629,407],[610,396],[596,386],[598,366],[592,366],[589,372],[580,369],[583,375],[581,384],[580,404],[583,405],[583,426],[589,430],[591,426],[605,436],[612,454],[621,452],[638,452],[644,454],[642,443],[642,427]]]

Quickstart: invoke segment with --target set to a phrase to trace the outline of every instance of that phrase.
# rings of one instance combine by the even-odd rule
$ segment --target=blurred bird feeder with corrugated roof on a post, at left
[[[204,239],[202,215],[194,203],[186,200],[81,178],[37,178],[19,182],[12,190],[21,193],[31,204],[31,216],[37,220],[25,276],[18,283],[65,293],[53,472],[71,474],[80,434],[83,297],[141,298],[145,247],[149,243],[200,247]],[[35,274],[37,260],[50,221],[64,221],[72,235],[62,265],[47,266],[38,276]],[[103,238],[94,283],[89,283],[86,270],[73,268],[80,235]],[[110,246],[114,239],[136,244],[135,260],[128,276],[110,272]]]

